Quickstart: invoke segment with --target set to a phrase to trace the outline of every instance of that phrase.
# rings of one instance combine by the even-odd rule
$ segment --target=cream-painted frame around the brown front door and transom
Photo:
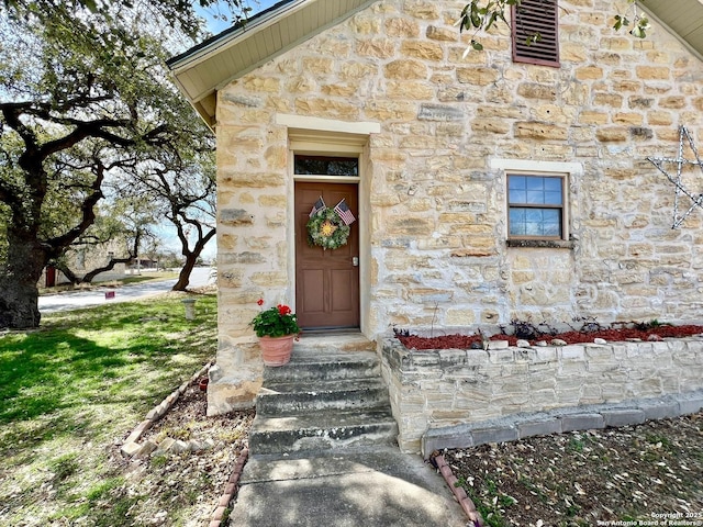
[[[305,131],[308,132],[308,131]],[[347,141],[344,141],[344,138]],[[356,134],[330,134],[315,133],[314,137],[310,132],[305,134],[294,134],[289,131],[289,149],[288,149],[288,173],[290,175],[288,186],[288,277],[289,289],[288,299],[293,310],[295,304],[295,214],[294,214],[294,192],[295,181],[325,181],[330,183],[356,183],[359,210],[356,213],[359,229],[359,329],[366,335],[368,328],[368,313],[370,299],[370,276],[369,276],[369,258],[370,258],[370,234],[368,222],[369,218],[369,191],[368,191],[368,135],[360,136]],[[342,141],[341,141],[342,138]],[[326,141],[325,141],[326,139]],[[352,178],[348,176],[295,176],[293,172],[293,160],[295,154],[321,155],[321,156],[339,156],[348,155],[349,157],[358,157],[359,176]],[[366,335],[370,337],[369,335]]]

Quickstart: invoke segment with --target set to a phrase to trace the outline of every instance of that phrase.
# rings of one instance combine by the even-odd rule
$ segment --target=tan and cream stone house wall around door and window
[[[614,32],[605,14],[628,3],[610,0],[560,2],[559,68],[513,64],[501,24],[481,36],[484,51],[462,58],[470,35],[453,24],[465,3],[375,2],[219,91],[219,323],[228,355],[217,362],[247,365],[252,386],[261,368],[246,346],[256,301],[294,301],[280,114],[380,124],[361,165],[366,213],[353,227],[367,231],[368,337],[511,318],[700,318],[703,214],[672,229],[673,186],[645,158],[676,156],[679,125],[698,139],[701,61],[659,26],[644,41]],[[577,167],[566,248],[507,246],[504,160]]]

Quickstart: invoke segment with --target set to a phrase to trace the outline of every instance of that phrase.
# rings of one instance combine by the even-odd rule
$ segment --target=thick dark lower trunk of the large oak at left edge
[[[0,327],[38,327],[37,282],[48,257],[36,239],[13,231],[8,229],[8,262],[0,273]]]

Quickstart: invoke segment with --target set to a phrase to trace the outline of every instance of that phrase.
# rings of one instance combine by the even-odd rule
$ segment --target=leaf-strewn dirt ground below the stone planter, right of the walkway
[[[703,412],[444,453],[489,526],[703,526]]]

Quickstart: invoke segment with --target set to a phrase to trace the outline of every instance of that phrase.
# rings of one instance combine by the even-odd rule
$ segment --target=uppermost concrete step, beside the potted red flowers
[[[264,369],[264,382],[268,384],[269,382],[359,379],[380,377],[380,361],[376,351],[334,354],[293,347],[288,365]]]

